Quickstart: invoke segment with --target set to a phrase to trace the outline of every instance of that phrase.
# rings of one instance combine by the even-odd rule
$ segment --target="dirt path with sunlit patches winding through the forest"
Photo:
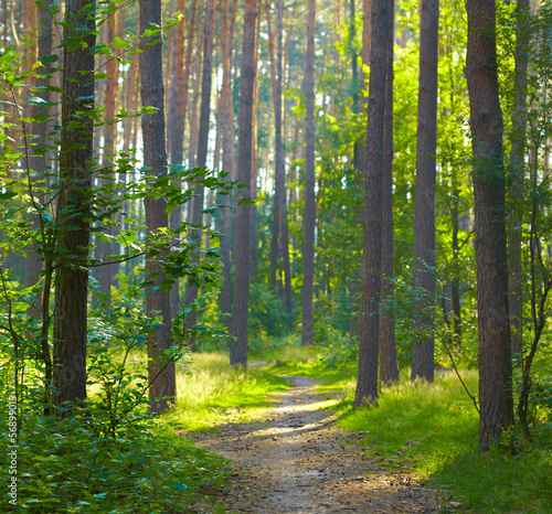
[[[189,435],[198,446],[242,469],[222,492],[229,512],[445,511],[445,500],[415,483],[396,461],[368,457],[365,447],[354,445],[362,433],[333,428],[331,413],[319,409],[322,397],[314,390],[315,381],[284,378],[293,388],[277,398],[261,422],[229,425],[220,433]]]

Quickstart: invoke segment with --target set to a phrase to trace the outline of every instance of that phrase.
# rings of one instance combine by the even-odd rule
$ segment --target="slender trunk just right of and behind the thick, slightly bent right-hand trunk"
[[[511,133],[511,168],[508,205],[508,301],[510,312],[510,339],[512,354],[518,361],[522,354],[522,269],[521,218],[523,202],[526,126],[527,126],[527,74],[529,65],[528,17],[529,0],[518,0],[516,20],[516,75],[513,85],[513,116]]]

